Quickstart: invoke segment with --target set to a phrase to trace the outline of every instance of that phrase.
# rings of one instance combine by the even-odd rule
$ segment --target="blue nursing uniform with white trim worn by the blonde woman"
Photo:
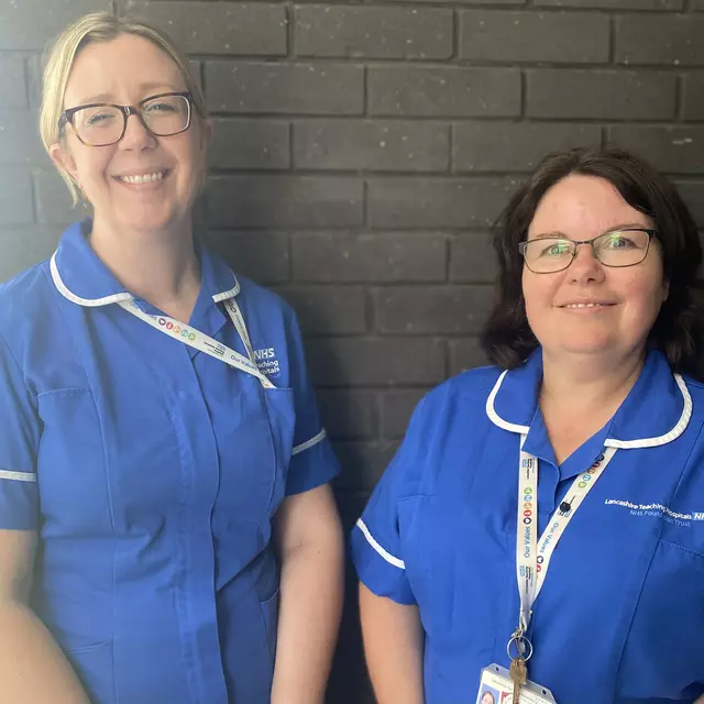
[[[296,318],[200,250],[189,324],[246,356],[234,298],[264,388],[116,305],[89,229],[0,287],[0,528],[38,531],[32,605],[95,704],[268,703],[272,518],[338,471]]]

